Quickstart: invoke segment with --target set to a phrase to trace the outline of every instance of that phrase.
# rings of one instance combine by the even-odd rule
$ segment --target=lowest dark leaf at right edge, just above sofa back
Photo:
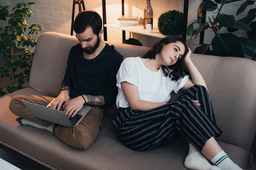
[[[239,37],[239,39],[241,41],[244,54],[249,57],[256,58],[256,42],[245,37]]]

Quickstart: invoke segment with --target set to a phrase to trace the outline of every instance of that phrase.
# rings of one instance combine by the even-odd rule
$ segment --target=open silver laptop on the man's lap
[[[31,111],[31,113],[38,119],[43,119],[48,122],[53,122],[58,125],[66,126],[66,127],[75,127],[78,125],[84,116],[90,111],[90,107],[83,106],[81,110],[74,116],[67,118],[64,113],[63,105],[60,110],[50,108],[50,104],[47,106],[38,105],[35,103],[27,102],[22,100],[24,105]]]

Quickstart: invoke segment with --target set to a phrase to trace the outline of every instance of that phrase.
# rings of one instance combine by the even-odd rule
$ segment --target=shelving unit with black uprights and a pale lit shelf
[[[122,0],[122,15],[125,14],[124,11],[124,0]],[[188,20],[188,10],[189,10],[189,0],[184,0],[184,5],[183,5],[183,22],[182,22],[182,35],[181,37],[186,40],[186,28],[187,28],[187,20]],[[137,26],[118,26],[117,24],[107,24],[106,21],[106,0],[102,0],[102,14],[103,14],[103,31],[104,31],[104,41],[108,40],[108,35],[107,35],[107,27],[111,28],[117,28],[121,29],[122,31],[122,40],[125,40],[125,31],[131,31],[135,32],[138,34],[144,34],[148,36],[153,36],[153,37],[166,37],[163,34],[160,34],[158,31],[158,28],[153,28],[151,33],[147,33],[143,26],[141,24],[138,24]],[[141,29],[142,28],[142,29]]]

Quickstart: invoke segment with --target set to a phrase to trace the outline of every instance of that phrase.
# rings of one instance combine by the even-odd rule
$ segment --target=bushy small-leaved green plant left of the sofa
[[[9,78],[12,83],[6,88],[0,87],[0,96],[6,94],[5,91],[12,93],[22,87],[25,82],[29,82],[30,68],[32,61],[29,59],[33,57],[34,51],[26,47],[34,47],[37,40],[32,39],[33,34],[38,34],[41,31],[41,26],[32,24],[29,26],[25,18],[30,18],[32,11],[27,8],[32,6],[34,2],[18,3],[17,6],[9,10],[11,6],[0,6],[0,20],[8,20],[8,25],[0,28],[0,51],[3,54],[5,64],[0,68],[0,77]],[[28,30],[28,36],[24,32]],[[22,47],[18,53],[14,53],[16,46]],[[16,71],[20,71],[16,74]]]

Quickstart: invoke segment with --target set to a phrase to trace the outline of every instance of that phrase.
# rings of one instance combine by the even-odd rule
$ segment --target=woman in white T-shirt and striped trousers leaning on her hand
[[[130,57],[122,62],[116,75],[119,112],[112,122],[119,140],[132,150],[145,151],[183,134],[189,141],[187,168],[241,170],[215,140],[222,131],[215,123],[207,85],[190,54],[182,38],[169,36],[142,59]],[[167,103],[170,93],[180,89],[184,92],[179,99]]]

